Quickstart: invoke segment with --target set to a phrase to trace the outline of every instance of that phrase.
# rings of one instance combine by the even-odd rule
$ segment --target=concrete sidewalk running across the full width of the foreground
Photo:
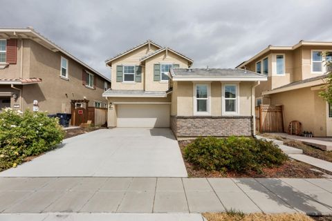
[[[332,215],[331,179],[1,177],[1,213]]]

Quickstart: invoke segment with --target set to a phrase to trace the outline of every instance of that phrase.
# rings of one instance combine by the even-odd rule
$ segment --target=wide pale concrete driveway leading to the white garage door
[[[0,177],[187,177],[187,171],[169,128],[113,128],[68,138]]]

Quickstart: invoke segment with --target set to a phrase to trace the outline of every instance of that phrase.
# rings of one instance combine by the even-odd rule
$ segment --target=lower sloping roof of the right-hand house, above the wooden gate
[[[270,95],[270,94],[285,92],[285,91],[288,91],[288,90],[296,90],[296,89],[299,89],[299,88],[306,88],[306,87],[311,87],[311,86],[323,85],[323,84],[326,84],[324,82],[324,79],[329,77],[329,75],[330,74],[325,74],[325,75],[320,75],[320,76],[317,76],[317,77],[311,77],[311,78],[304,79],[304,80],[294,81],[290,84],[280,86],[279,88],[275,88],[273,90],[263,91],[261,94],[262,95]]]

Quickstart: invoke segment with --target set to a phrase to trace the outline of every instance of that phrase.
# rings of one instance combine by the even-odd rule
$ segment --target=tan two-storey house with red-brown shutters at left
[[[106,108],[102,93],[110,86],[104,75],[32,28],[0,29],[1,108],[35,106],[50,114],[71,113],[73,106]]]

